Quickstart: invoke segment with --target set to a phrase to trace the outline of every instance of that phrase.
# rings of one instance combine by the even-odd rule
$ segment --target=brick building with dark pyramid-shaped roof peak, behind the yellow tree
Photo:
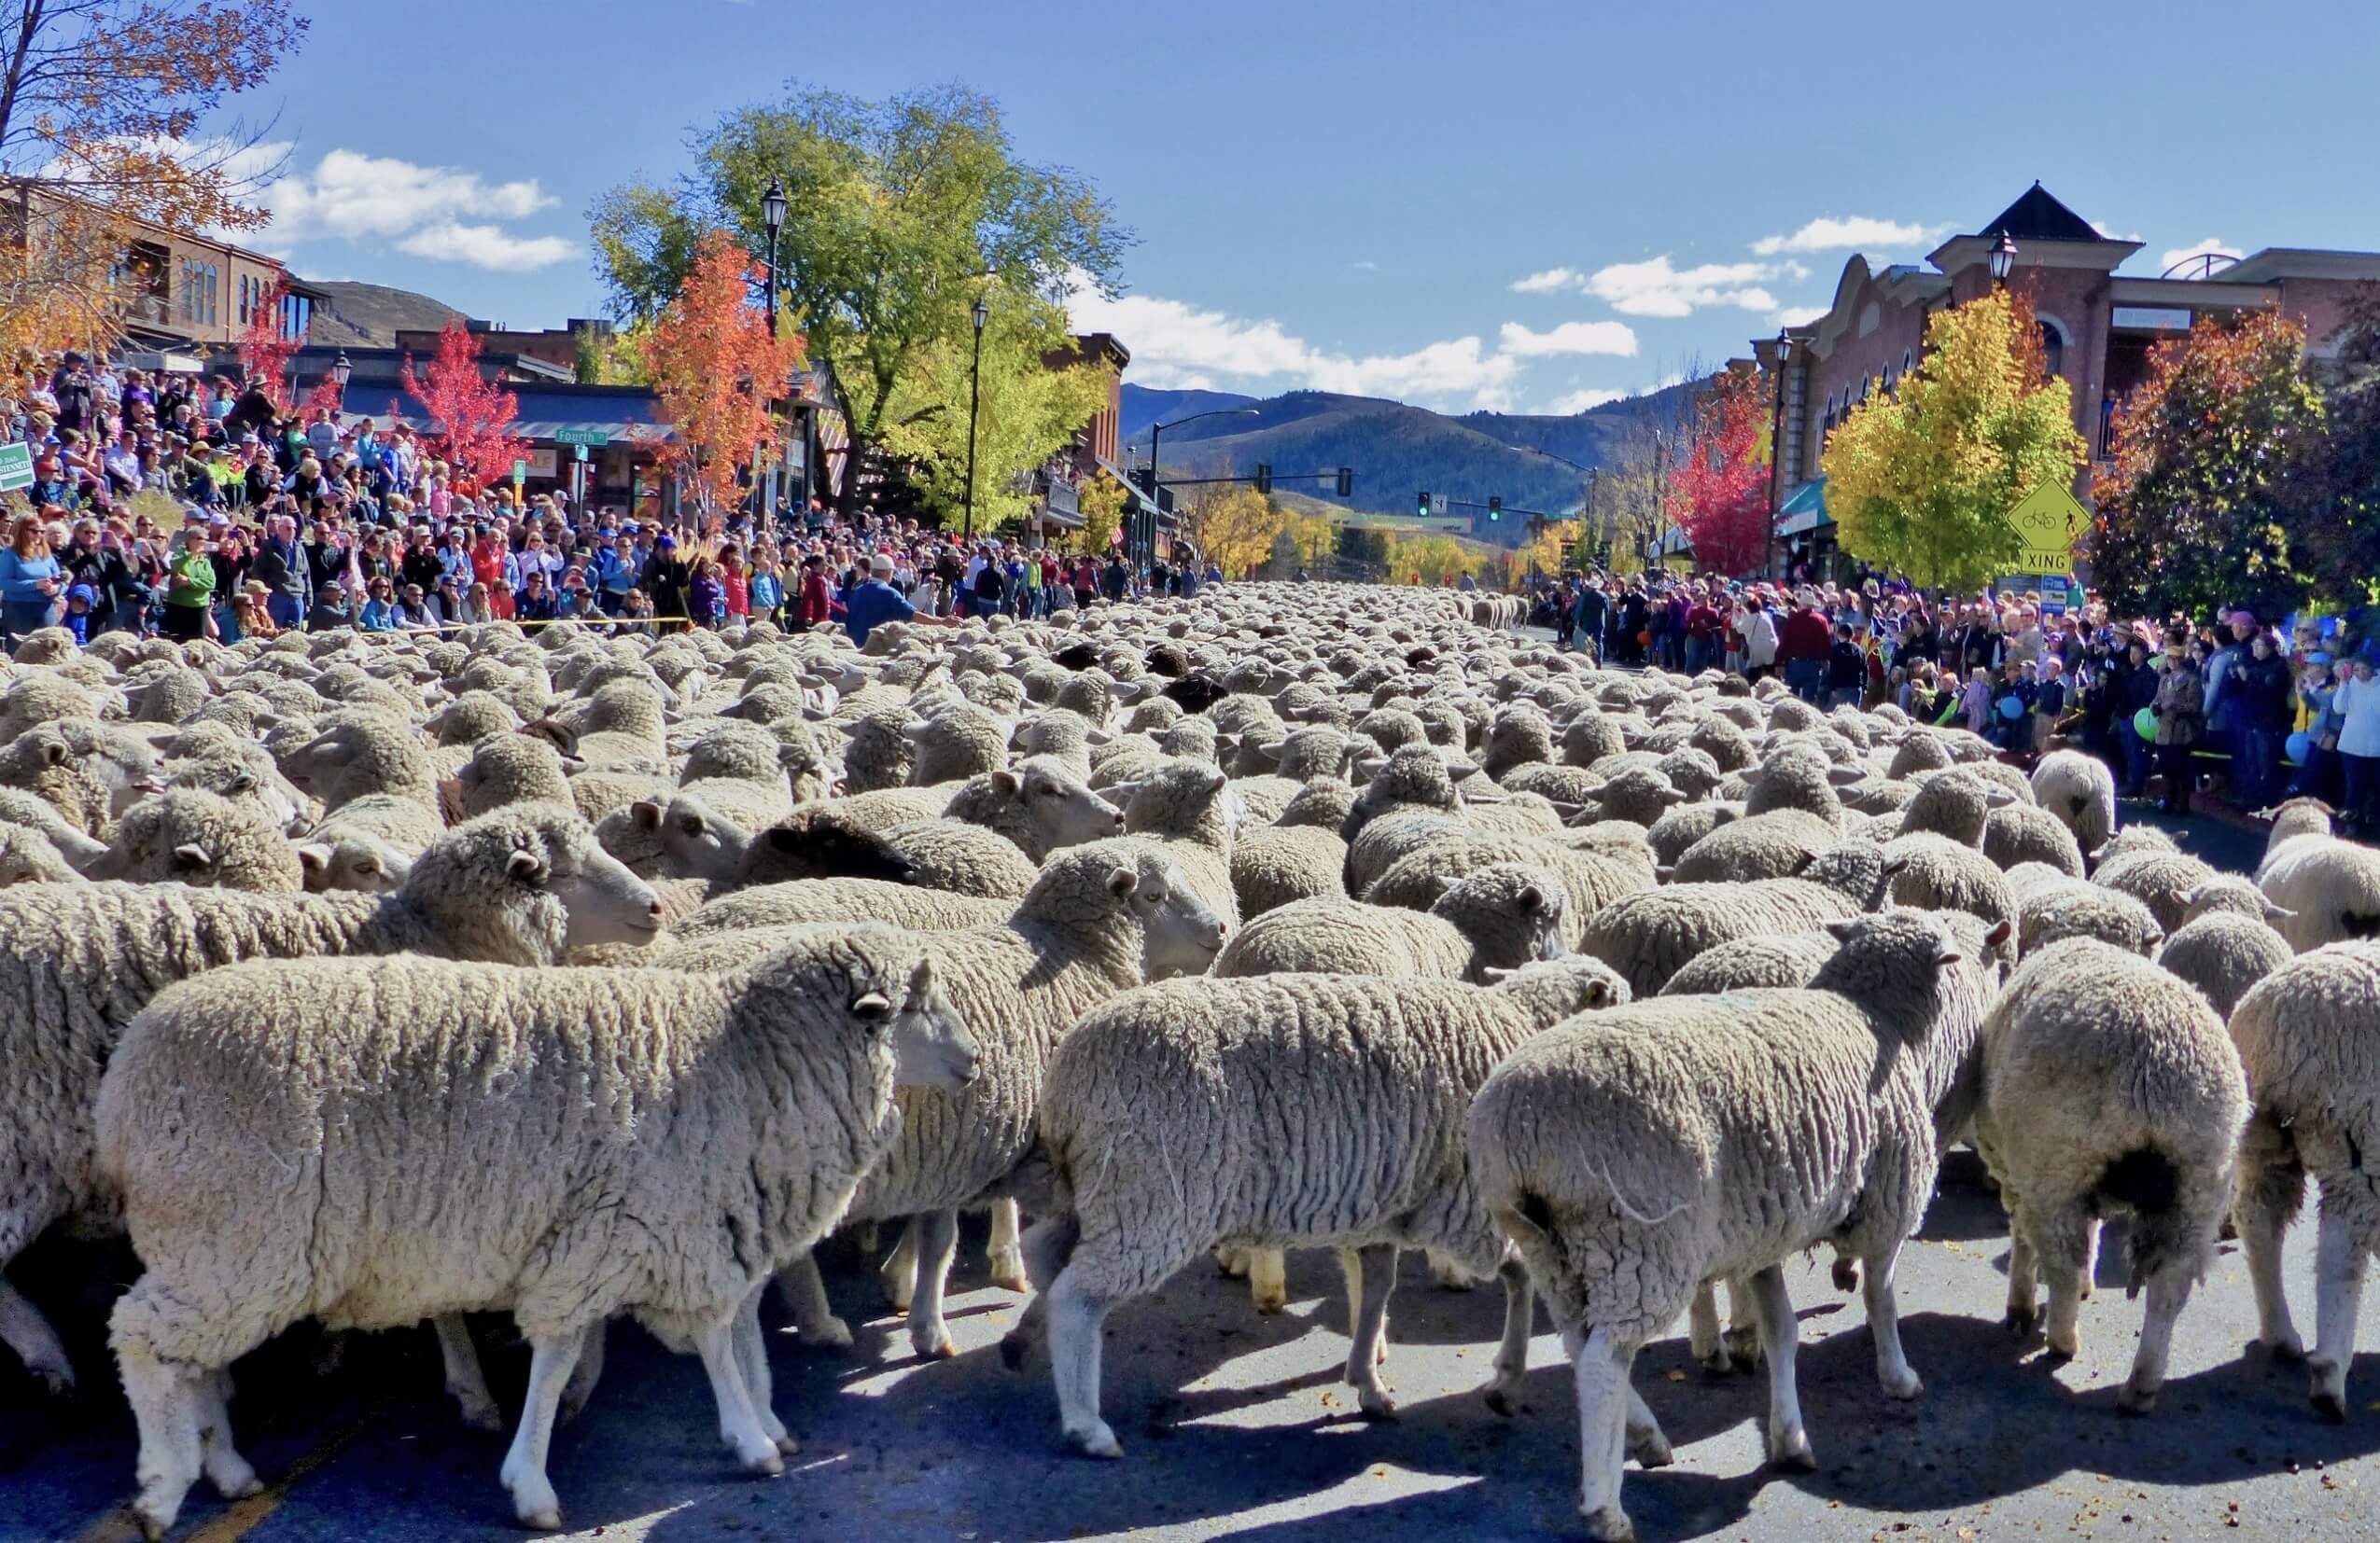
[[[2009,285],[2033,297],[2049,369],[2075,399],[2075,428],[2092,456],[2109,452],[2116,404],[2149,373],[2149,349],[2187,333],[2199,316],[2278,309],[2306,326],[2309,352],[2332,349],[2340,302],[2359,281],[2380,278],[2380,252],[2266,247],[2242,259],[2192,259],[2161,276],[2118,269],[2142,250],[2097,226],[2033,183],[1973,235],[1952,235],[1923,264],[1842,264],[1825,316],[1785,328],[1778,537],[1787,566],[1833,561],[1833,518],[1818,454],[1825,435],[1875,390],[1894,385],[1925,352],[1925,319],[1992,290],[1992,247],[2016,245]],[[1752,345],[1759,369],[1778,373],[1778,340]],[[2087,478],[2085,478],[2087,480]],[[2075,492],[2082,492],[2078,487]]]

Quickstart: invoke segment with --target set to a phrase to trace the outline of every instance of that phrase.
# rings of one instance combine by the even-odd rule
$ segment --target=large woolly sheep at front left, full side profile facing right
[[[545,1446],[609,1312],[690,1343],[735,1460],[781,1474],[793,1438],[747,1305],[883,1153],[895,1082],[976,1075],[966,1025],[912,953],[871,927],[726,980],[307,961],[167,994],[126,1034],[98,1113],[145,1265],[109,1334],[140,1424],[143,1529],[169,1529],[200,1472],[255,1493],[217,1374],[305,1317],[512,1312],[531,1374],[500,1472],[528,1526],[562,1524]],[[376,1070],[290,1077],[293,1058]],[[528,1151],[521,1129],[545,1139]],[[259,1172],[259,1144],[290,1158]],[[421,1205],[426,1174],[462,1194]]]

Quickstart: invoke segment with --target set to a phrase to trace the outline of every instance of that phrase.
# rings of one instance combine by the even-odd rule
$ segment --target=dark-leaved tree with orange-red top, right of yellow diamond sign
[[[2273,616],[2306,594],[2318,523],[2323,397],[2306,330],[2275,311],[2202,319],[2149,354],[2116,416],[2116,456],[2092,485],[2092,575],[2123,613]]]

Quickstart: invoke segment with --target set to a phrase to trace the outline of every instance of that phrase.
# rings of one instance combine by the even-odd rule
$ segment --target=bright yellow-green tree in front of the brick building
[[[2087,454],[2066,380],[2044,371],[2033,307],[2002,290],[1935,311],[1925,366],[1828,435],[1825,502],[1852,556],[1973,590],[2018,552],[2006,511],[2044,483],[2073,483]]]

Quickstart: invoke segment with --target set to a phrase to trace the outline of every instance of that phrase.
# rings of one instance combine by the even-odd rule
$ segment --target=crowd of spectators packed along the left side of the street
[[[290,628],[455,630],[483,621],[671,630],[774,621],[1047,616],[1219,578],[1188,561],[954,540],[812,499],[776,521],[574,506],[478,483],[405,423],[283,409],[228,378],[119,369],[76,352],[0,380],[0,435],[33,487],[0,549],[7,647],[67,625],[167,637]]]

